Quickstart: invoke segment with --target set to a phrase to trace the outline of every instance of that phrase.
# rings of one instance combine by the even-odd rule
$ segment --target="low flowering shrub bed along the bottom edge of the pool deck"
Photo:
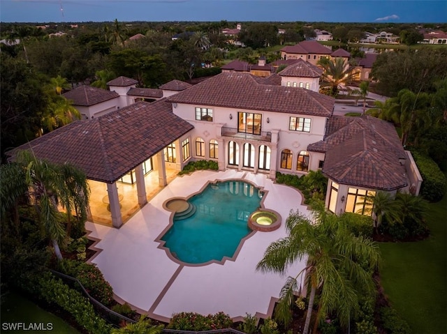
[[[230,316],[223,312],[208,314],[206,317],[195,312],[174,314],[166,328],[180,331],[211,331],[230,328],[233,324]]]

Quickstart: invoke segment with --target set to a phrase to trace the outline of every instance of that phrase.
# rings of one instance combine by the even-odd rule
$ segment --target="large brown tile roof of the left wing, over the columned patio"
[[[38,158],[71,162],[88,179],[112,183],[191,129],[166,99],[138,102],[90,121],[75,121],[10,153],[31,147]]]

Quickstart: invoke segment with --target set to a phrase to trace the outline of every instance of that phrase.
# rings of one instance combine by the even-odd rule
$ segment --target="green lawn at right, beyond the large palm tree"
[[[380,243],[381,284],[413,333],[447,333],[447,195],[430,204],[431,236],[415,243]]]

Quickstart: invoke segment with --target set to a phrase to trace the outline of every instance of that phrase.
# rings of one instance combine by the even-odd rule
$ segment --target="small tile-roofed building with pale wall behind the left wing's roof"
[[[120,107],[118,93],[96,87],[82,85],[62,95],[73,101],[73,107],[78,109],[82,119],[94,119]]]

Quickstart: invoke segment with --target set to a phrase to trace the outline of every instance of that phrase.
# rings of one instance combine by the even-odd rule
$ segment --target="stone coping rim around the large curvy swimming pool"
[[[233,261],[233,262],[236,261],[237,256],[239,255],[240,250],[242,250],[242,246],[244,245],[245,241],[247,241],[249,238],[251,238],[251,236],[254,236],[254,234],[256,234],[256,230],[251,229],[251,232],[249,234],[247,234],[247,236],[244,236],[244,238],[240,239],[240,243],[239,243],[239,245],[237,245],[237,248],[236,248],[236,250],[235,250],[235,252],[233,254],[233,257],[224,256],[221,260],[210,260],[210,261],[206,261],[206,262],[203,262],[203,263],[200,263],[200,264],[190,264],[188,262],[184,262],[184,261],[181,261],[180,259],[177,259],[177,257],[175,257],[173,255],[173,253],[170,252],[170,249],[165,247],[166,241],[161,240],[161,238],[166,234],[166,232],[171,227],[174,226],[175,211],[170,210],[168,208],[168,206],[166,205],[166,204],[168,204],[168,202],[173,201],[175,199],[183,199],[184,201],[188,202],[188,200],[191,197],[196,196],[196,195],[200,194],[201,192],[203,192],[203,190],[205,190],[205,188],[207,188],[208,185],[212,185],[213,183],[215,184],[215,183],[218,183],[218,182],[231,182],[231,181],[243,181],[244,183],[249,183],[250,185],[253,185],[254,188],[257,188],[258,190],[261,190],[264,193],[264,195],[261,198],[261,201],[259,202],[259,206],[260,206],[261,210],[270,211],[270,209],[265,208],[265,206],[264,206],[264,200],[265,200],[265,197],[267,197],[267,195],[268,195],[268,190],[265,190],[265,188],[263,186],[261,186],[261,185],[256,185],[253,182],[244,179],[244,176],[242,176],[242,178],[237,178],[237,179],[235,179],[235,178],[233,178],[233,179],[214,179],[213,181],[207,181],[203,185],[202,188],[200,188],[196,192],[191,193],[188,197],[170,197],[170,198],[166,199],[166,201],[163,202],[162,206],[163,206],[163,208],[166,211],[170,212],[169,223],[168,223],[168,226],[166,226],[165,229],[163,229],[163,231],[161,231],[161,233],[154,239],[154,241],[156,243],[159,243],[159,246],[157,248],[159,248],[161,250],[164,250],[166,252],[166,255],[169,257],[169,259],[171,259],[171,261],[174,261],[175,263],[179,264],[180,266],[189,266],[189,267],[208,266],[210,264],[221,264],[221,265],[223,265],[223,264],[225,264],[226,261]],[[256,211],[258,211],[258,210],[256,210]],[[254,211],[254,212],[256,212],[256,211]],[[250,213],[250,215],[251,214],[253,214],[253,213]],[[248,221],[247,221],[247,226],[249,227]]]

